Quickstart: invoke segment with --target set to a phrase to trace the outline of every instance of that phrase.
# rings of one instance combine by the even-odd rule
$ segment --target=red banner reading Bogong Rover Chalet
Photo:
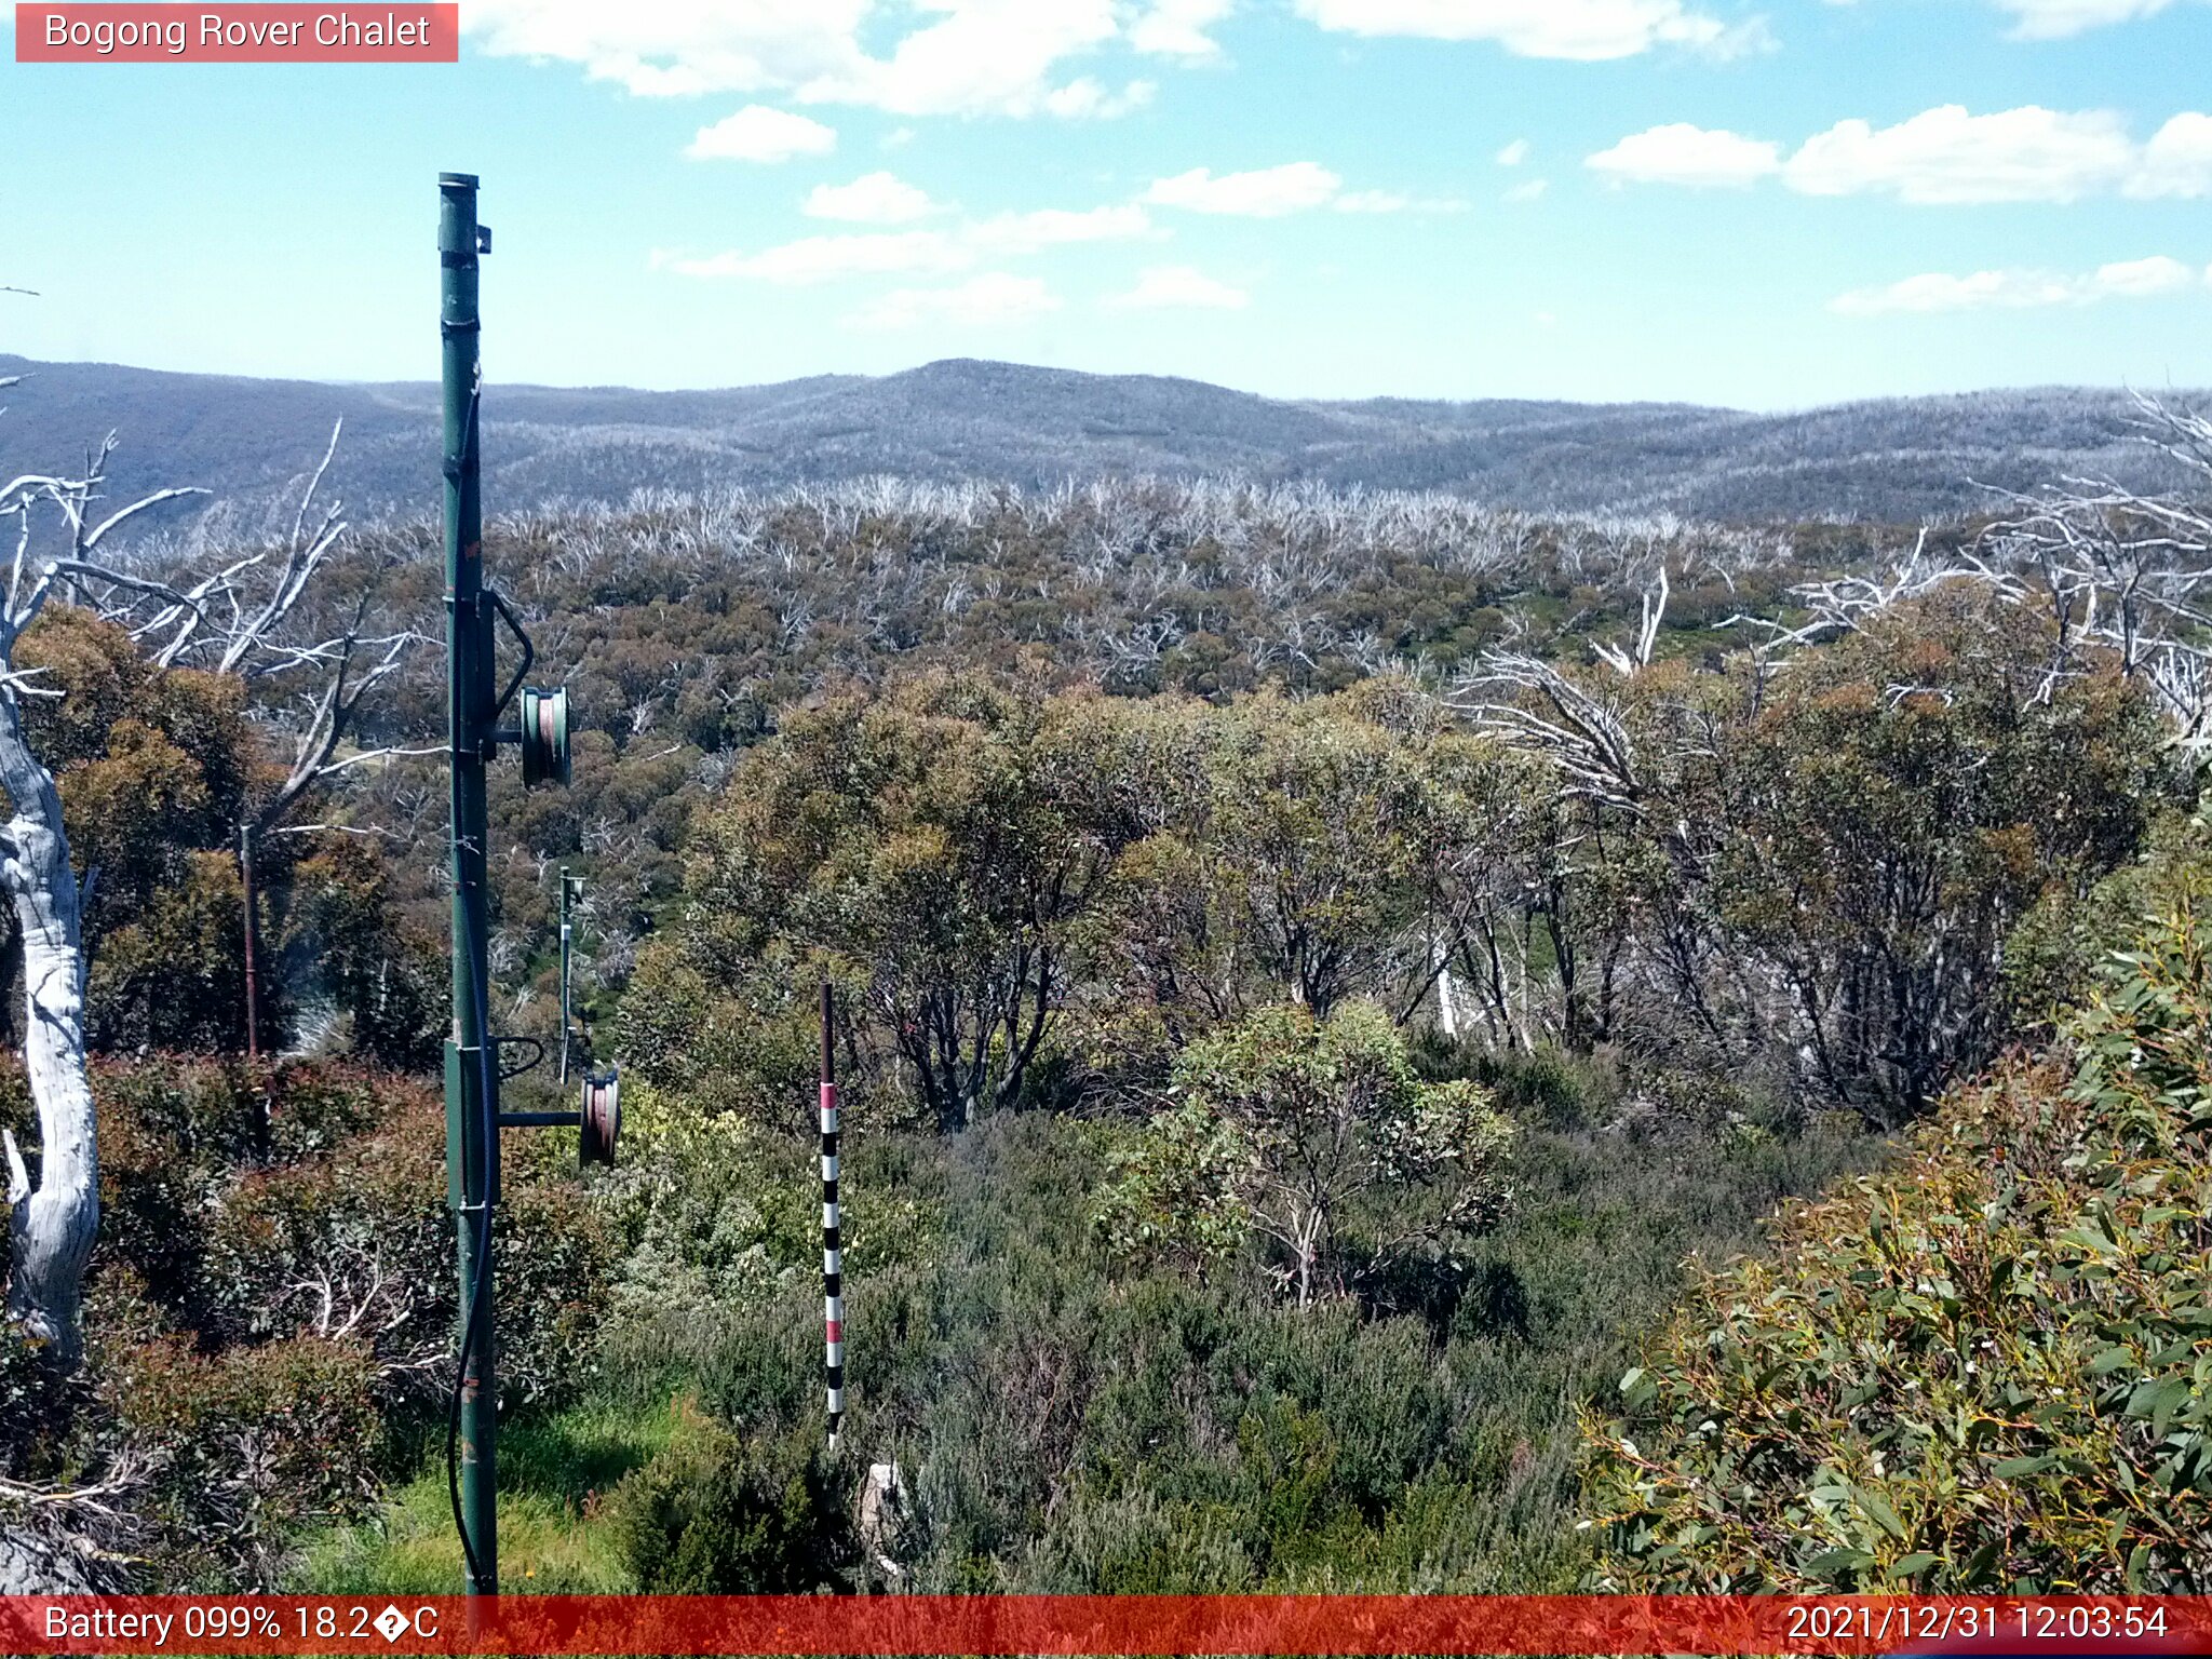
[[[15,4],[18,64],[458,64],[460,7]]]

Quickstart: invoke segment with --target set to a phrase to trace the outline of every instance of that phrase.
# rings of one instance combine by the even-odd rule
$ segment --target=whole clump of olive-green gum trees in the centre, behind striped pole
[[[1407,684],[1232,708],[920,677],[794,714],[701,818],[624,1053],[763,1121],[805,1097],[816,975],[860,1110],[1141,1099],[1292,991],[1411,1015],[1495,876],[1524,768]],[[781,1102],[781,1104],[779,1104]]]

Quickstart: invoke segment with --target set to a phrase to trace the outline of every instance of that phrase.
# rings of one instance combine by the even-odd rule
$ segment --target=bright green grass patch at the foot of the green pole
[[[500,1588],[509,1595],[624,1595],[637,1579],[599,1500],[679,1431],[686,1405],[637,1411],[580,1405],[500,1427]],[[294,1571],[307,1595],[442,1595],[460,1584],[460,1542],[445,1484],[445,1440],[394,1486],[376,1517],[307,1540]]]

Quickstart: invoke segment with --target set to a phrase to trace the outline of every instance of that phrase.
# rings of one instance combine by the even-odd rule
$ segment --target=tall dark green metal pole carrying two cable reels
[[[460,1237],[458,1515],[469,1595],[498,1595],[498,1389],[491,1217],[500,1197],[498,1066],[487,1051],[484,763],[493,752],[491,606],[478,493],[476,179],[438,175],[445,338],[445,644],[453,765],[453,1037],[445,1051],[447,1197]]]

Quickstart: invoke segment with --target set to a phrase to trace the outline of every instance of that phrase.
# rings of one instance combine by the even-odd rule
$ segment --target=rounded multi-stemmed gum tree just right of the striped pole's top
[[[1060,712],[931,677],[794,717],[699,830],[692,960],[825,962],[945,1128],[1020,1099],[1115,841]]]

